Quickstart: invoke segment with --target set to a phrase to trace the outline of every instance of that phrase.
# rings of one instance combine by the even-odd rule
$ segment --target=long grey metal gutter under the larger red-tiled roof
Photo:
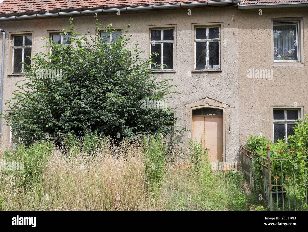
[[[0,21],[12,20],[12,19],[24,19],[24,18],[40,18],[40,17],[53,17],[53,16],[67,16],[74,14],[92,14],[92,13],[105,13],[105,12],[119,12],[130,11],[130,10],[152,10],[152,9],[164,9],[173,7],[187,7],[187,6],[208,6],[216,4],[230,4],[239,3],[241,0],[225,0],[225,1],[206,1],[206,2],[193,2],[193,3],[177,3],[177,4],[164,4],[164,5],[149,5],[149,6],[135,6],[135,7],[122,7],[122,8],[109,8],[109,9],[98,9],[98,10],[78,10],[78,11],[67,11],[49,14],[31,14],[31,15],[18,15],[1,17]]]

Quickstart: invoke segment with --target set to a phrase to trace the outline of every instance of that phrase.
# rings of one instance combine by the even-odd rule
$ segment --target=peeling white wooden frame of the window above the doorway
[[[197,28],[207,28],[206,30],[206,39],[196,39],[196,29]],[[219,38],[208,39],[209,38],[209,29],[208,28],[219,28]],[[209,42],[218,41],[219,42],[219,67],[218,68],[209,68]],[[196,68],[196,42],[206,42],[206,67],[205,68]],[[194,27],[194,47],[195,47],[195,60],[194,60],[194,69],[195,70],[220,70],[221,69],[221,26],[195,26]]]

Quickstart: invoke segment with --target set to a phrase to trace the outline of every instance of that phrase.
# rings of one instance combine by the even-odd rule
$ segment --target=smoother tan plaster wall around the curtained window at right
[[[307,113],[307,66],[271,63],[271,18],[303,17],[304,60],[308,61],[308,10],[302,8],[239,10],[239,120],[240,142],[249,133],[273,139],[270,106],[304,106]],[[248,69],[273,69],[273,80],[247,78]]]

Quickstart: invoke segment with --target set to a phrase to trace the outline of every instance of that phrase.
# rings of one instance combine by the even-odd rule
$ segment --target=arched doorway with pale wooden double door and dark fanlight
[[[199,108],[193,110],[193,140],[202,142],[209,150],[210,162],[223,161],[223,121],[221,109]]]

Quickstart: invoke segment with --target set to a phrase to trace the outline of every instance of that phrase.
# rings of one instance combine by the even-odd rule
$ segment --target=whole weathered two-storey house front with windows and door
[[[0,28],[6,31],[4,113],[10,111],[5,100],[12,98],[15,83],[22,79],[20,61],[28,62],[26,54],[46,52],[43,37],[67,43],[59,33],[70,30],[70,17],[78,33],[89,30],[88,34],[94,35],[94,12],[84,10],[104,8],[110,11],[102,10],[97,16],[103,27],[112,23],[112,28],[120,31],[130,24],[127,35],[132,36],[132,50],[138,43],[146,51],[145,58],[151,52],[161,54],[155,62],[166,66],[155,74],[161,80],[174,79],[172,84],[178,85],[174,90],[181,92],[168,106],[175,108],[176,126],[190,131],[183,135],[184,146],[198,139],[209,150],[211,161],[236,161],[239,146],[250,133],[266,133],[271,140],[282,138],[292,132],[294,121],[306,114],[306,2],[24,2],[4,0],[0,4]],[[281,7],[290,3],[300,5]],[[131,6],[137,7],[127,10]],[[66,15],[60,15],[60,10]],[[80,14],[72,13],[76,11]],[[23,15],[34,16],[20,17]],[[117,36],[119,33],[106,41]],[[8,147],[12,135],[5,124],[2,119],[2,145]]]

